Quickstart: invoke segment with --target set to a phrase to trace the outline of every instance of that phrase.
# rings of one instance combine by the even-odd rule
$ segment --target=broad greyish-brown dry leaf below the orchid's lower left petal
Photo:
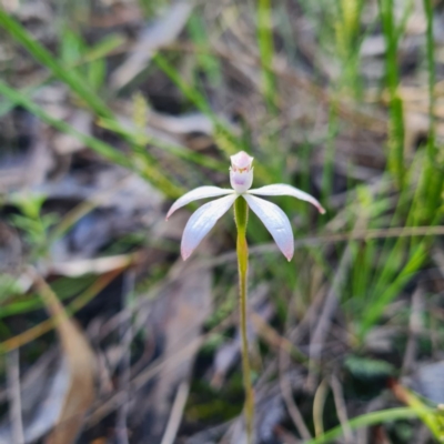
[[[142,389],[134,396],[135,408],[131,414],[137,423],[134,442],[161,442],[171,401],[180,384],[191,375],[195,351],[180,357],[179,354],[200,336],[203,322],[212,310],[212,272],[192,271],[192,261],[180,263],[175,279],[157,299],[147,323],[162,344],[165,365],[151,393],[147,395]],[[138,436],[139,428],[142,436]]]

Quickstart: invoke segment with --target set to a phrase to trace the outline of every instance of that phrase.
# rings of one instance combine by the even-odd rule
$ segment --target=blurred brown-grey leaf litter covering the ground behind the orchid
[[[129,171],[105,161],[73,133],[58,132],[1,98],[0,303],[14,314],[1,323],[0,346],[48,316],[53,317],[48,330],[56,335],[32,335],[30,343],[19,341],[19,349],[3,350],[8,359],[0,369],[0,401],[8,413],[1,420],[0,443],[243,442],[232,222],[216,229],[200,259],[183,265],[178,262],[178,241],[186,215],[164,224],[170,203],[165,195],[171,193],[155,188],[154,180],[144,180],[152,179],[147,171],[154,170],[176,178],[184,188],[209,182],[226,186],[220,165],[233,140],[239,150],[242,144],[251,148],[280,180],[291,178],[311,186],[331,209],[322,229],[316,229],[312,214],[293,213],[295,233],[306,234],[309,226],[313,238],[299,250],[293,269],[276,265],[268,245],[251,252],[258,443],[309,438],[314,432],[315,394],[331,374],[336,380],[325,397],[325,430],[346,417],[405,402],[396,395],[405,387],[433,405],[443,403],[438,238],[431,266],[414,269],[394,290],[391,284],[398,272],[384,281],[385,286],[376,285],[391,266],[400,271],[407,255],[397,238],[384,238],[384,230],[405,222],[397,199],[412,202],[421,174],[412,168],[414,180],[400,191],[384,171],[385,144],[393,134],[386,124],[390,98],[381,88],[387,47],[383,30],[374,26],[375,2],[361,11],[361,47],[354,48],[360,64],[354,73],[353,63],[341,69],[345,47],[334,54],[334,44],[345,40],[341,23],[334,30],[325,26],[325,13],[332,21],[341,18],[331,6],[323,11],[305,1],[273,4],[275,53],[272,64],[264,67],[255,16],[246,3],[143,6],[98,0],[69,4],[64,12],[46,0],[3,3],[54,57],[61,57],[59,47],[68,39],[56,26],[58,19],[71,21],[78,48],[82,41],[93,44],[115,32],[123,36],[123,44],[98,63],[85,56],[85,62],[80,58],[70,68],[88,78],[93,92],[109,103],[115,115],[112,124],[99,120],[4,30],[0,70],[11,87],[51,117],[109,143],[133,164]],[[443,142],[442,88],[435,85],[431,117],[422,2],[412,2],[414,12],[405,16],[405,4],[394,4],[402,34],[397,93],[404,107],[403,149],[411,168],[423,165],[422,149],[432,124],[436,140]],[[438,13],[434,27],[440,42],[444,24]],[[158,68],[153,58],[159,52],[178,69],[188,91]],[[441,64],[436,48],[440,69]],[[273,77],[273,105],[264,101],[265,71]],[[342,78],[344,73],[351,77]],[[357,78],[360,82],[353,83]],[[210,111],[190,90],[203,92]],[[145,98],[142,122],[134,121],[134,92]],[[229,135],[221,132],[216,118]],[[113,131],[117,124],[121,131]],[[139,131],[143,142],[134,135]],[[273,163],[269,152],[280,152],[280,161]],[[196,153],[216,168],[201,164]],[[28,210],[17,203],[18,196],[24,196]],[[360,214],[362,208],[367,213]],[[391,220],[394,213],[397,219]],[[17,215],[26,220],[14,224]],[[253,236],[263,241],[266,238],[251,219],[252,232],[259,230]],[[342,236],[342,243],[323,241],[353,234],[362,219],[363,231],[381,230],[381,240],[364,234],[353,241]],[[321,230],[325,238],[319,235]],[[415,245],[412,240],[411,251]],[[90,293],[72,295],[60,284],[71,286],[84,275],[98,282]],[[56,287],[61,289],[57,294]],[[393,294],[386,293],[381,322],[360,342],[361,319],[373,306],[364,301],[374,297],[375,289]],[[262,294],[259,302],[255,292]],[[70,311],[71,302],[83,296],[89,302]],[[30,303],[33,309],[26,310]],[[392,377],[400,377],[397,392]],[[336,415],[334,408],[342,411]],[[390,435],[393,442],[408,443],[416,436],[414,424],[366,427],[357,436],[369,442],[365,434],[386,441]]]

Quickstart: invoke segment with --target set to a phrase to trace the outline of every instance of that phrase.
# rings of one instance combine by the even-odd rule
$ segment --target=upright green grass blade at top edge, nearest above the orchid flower
[[[278,111],[275,105],[275,79],[272,71],[274,42],[273,42],[273,10],[271,0],[258,1],[258,43],[262,69],[262,93],[269,111]]]

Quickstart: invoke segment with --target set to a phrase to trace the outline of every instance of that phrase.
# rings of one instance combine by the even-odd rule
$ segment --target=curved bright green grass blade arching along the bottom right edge
[[[425,412],[433,412],[432,410],[425,410]],[[387,423],[400,420],[413,420],[418,417],[418,411],[411,407],[400,407],[400,408],[387,408],[381,410],[379,412],[366,413],[364,415],[354,417],[349,421],[349,427],[352,430],[369,427],[371,425]],[[331,431],[324,433],[323,435],[316,436],[313,440],[305,442],[305,444],[327,444],[337,440],[344,434],[342,425],[332,428]]]

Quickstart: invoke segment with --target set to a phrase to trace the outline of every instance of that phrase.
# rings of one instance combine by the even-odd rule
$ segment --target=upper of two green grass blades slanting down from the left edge
[[[34,40],[21,24],[2,9],[0,9],[0,26],[3,27],[17,42],[24,47],[38,62],[47,67],[57,79],[69,85],[72,92],[77,93],[94,113],[108,118],[112,117],[112,112],[107,104],[94,94],[83,79],[73,70],[67,69],[59,63],[46,48]]]

